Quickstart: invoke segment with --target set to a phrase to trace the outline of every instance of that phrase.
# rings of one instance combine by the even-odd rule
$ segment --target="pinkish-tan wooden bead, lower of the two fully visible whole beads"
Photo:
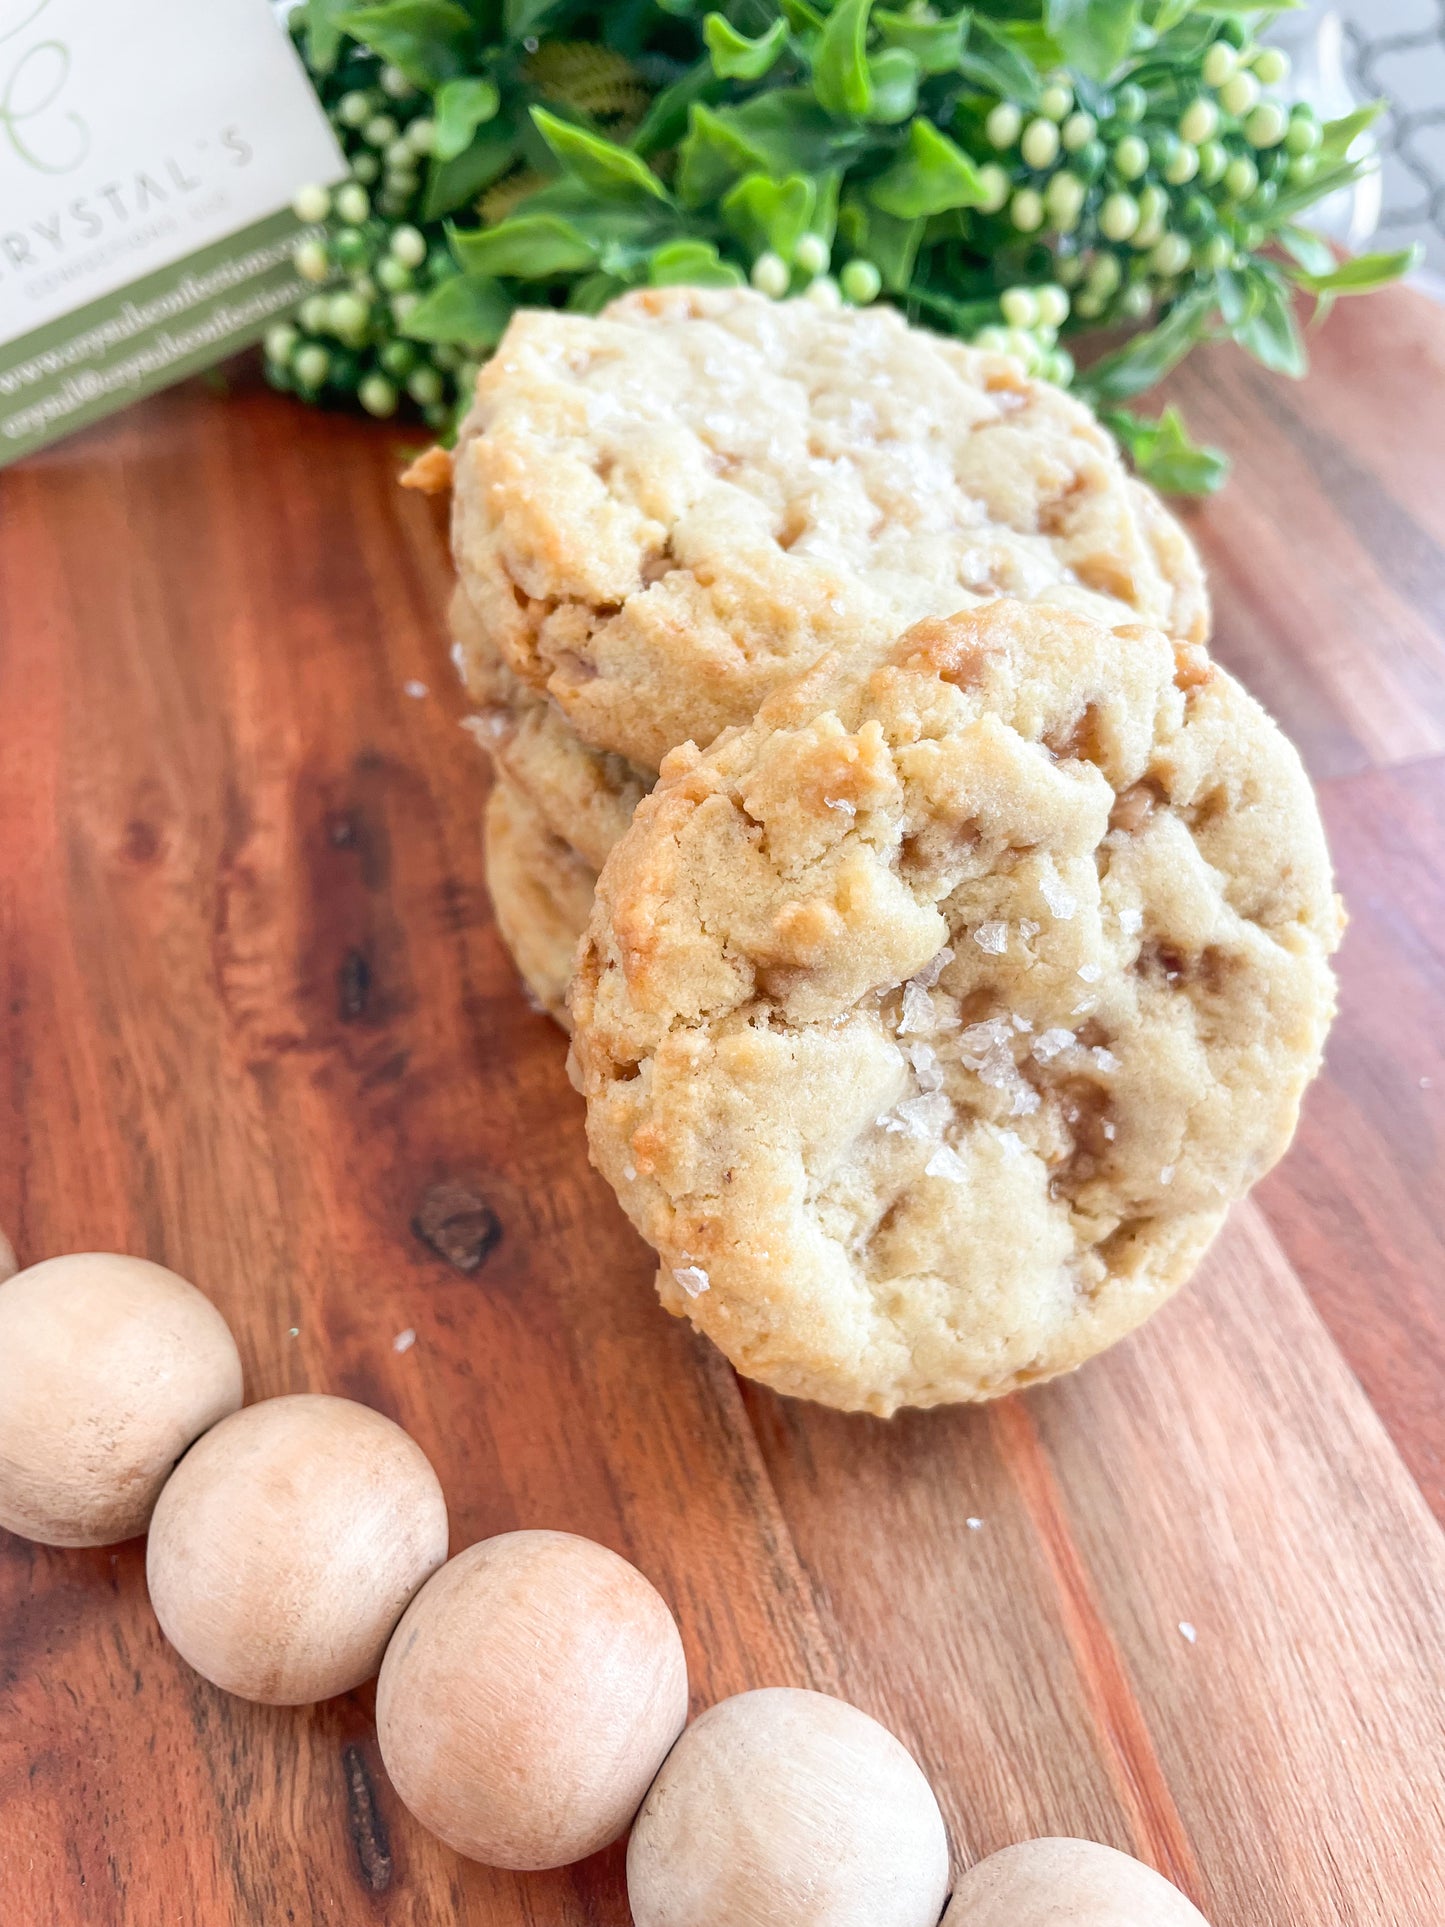
[[[615,1840],[686,1717],[661,1594],[568,1532],[459,1553],[397,1626],[376,1694],[405,1804],[495,1867],[561,1867]]]

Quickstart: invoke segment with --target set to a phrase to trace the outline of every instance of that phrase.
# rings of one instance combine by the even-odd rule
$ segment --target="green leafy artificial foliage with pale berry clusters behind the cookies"
[[[351,179],[306,189],[318,283],[266,341],[306,399],[403,399],[447,434],[520,304],[744,283],[1017,355],[1085,393],[1141,474],[1206,491],[1177,410],[1119,407],[1227,335],[1304,370],[1339,264],[1302,225],[1368,166],[1237,0],[306,0],[293,31]],[[326,289],[326,291],[324,291]],[[1131,333],[1075,372],[1071,343]],[[1065,345],[1069,343],[1069,345]]]

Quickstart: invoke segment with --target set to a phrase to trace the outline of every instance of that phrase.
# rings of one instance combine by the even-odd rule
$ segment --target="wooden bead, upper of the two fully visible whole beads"
[[[181,1461],[150,1522],[162,1632],[243,1700],[301,1705],[368,1680],[447,1557],[422,1447],[351,1399],[250,1405]]]

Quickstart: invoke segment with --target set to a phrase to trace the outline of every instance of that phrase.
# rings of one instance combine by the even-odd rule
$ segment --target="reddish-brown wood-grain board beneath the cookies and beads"
[[[857,1700],[958,1865],[1079,1833],[1214,1927],[1437,1921],[1445,318],[1341,310],[1316,366],[1287,389],[1216,356],[1177,391],[1237,457],[1196,532],[1222,653],[1322,780],[1345,1008],[1295,1154],[1137,1339],[882,1424],[740,1386],[657,1310],[491,927],[439,520],[391,486],[395,434],[245,383],[0,476],[21,1258],[195,1278],[252,1397],[414,1432],[455,1547],[618,1547],[678,1611],[696,1705]],[[139,1544],[0,1534],[0,1919],[626,1921],[620,1850],[516,1877],[430,1840],[370,1711],[195,1678]]]

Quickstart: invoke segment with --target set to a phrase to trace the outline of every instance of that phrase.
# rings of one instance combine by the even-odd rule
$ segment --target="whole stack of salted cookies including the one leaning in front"
[[[659,289],[520,314],[453,489],[497,921],[663,1303],[875,1412],[1137,1326],[1289,1141],[1339,910],[1108,434],[882,308]]]

